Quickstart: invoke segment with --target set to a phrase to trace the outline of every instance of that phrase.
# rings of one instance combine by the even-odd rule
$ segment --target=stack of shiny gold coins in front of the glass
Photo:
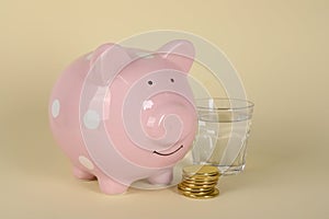
[[[178,184],[178,191],[191,198],[213,198],[219,194],[216,188],[218,178],[215,166],[189,165],[183,169],[183,181]]]

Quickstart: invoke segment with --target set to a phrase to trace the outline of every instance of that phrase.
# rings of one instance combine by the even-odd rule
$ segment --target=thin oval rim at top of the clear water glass
[[[229,106],[229,107],[209,107],[209,106],[198,106],[197,102],[198,101],[206,101],[208,103],[209,100],[213,100],[214,102],[216,101],[235,101],[239,103],[245,103],[245,106]],[[243,99],[229,99],[229,97],[201,97],[201,99],[195,99],[195,107],[200,110],[211,110],[211,111],[229,111],[229,110],[246,110],[246,108],[253,108],[254,103],[249,101],[249,100],[243,100]]]

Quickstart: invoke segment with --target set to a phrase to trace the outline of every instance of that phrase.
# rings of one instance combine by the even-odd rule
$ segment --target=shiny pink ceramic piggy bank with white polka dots
[[[197,129],[193,61],[193,45],[178,39],[156,51],[104,44],[69,65],[53,89],[49,120],[73,175],[97,178],[105,194],[143,178],[170,184]]]

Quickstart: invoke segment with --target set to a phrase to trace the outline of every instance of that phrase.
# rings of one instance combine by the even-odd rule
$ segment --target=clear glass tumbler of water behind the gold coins
[[[194,164],[218,168],[223,175],[246,165],[253,103],[237,99],[197,99],[198,132],[193,142]]]

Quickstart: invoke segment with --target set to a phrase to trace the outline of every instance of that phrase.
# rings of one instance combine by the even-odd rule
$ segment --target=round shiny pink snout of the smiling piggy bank
[[[160,94],[147,100],[141,112],[145,135],[168,148],[194,130],[196,113],[193,104],[178,94]]]

